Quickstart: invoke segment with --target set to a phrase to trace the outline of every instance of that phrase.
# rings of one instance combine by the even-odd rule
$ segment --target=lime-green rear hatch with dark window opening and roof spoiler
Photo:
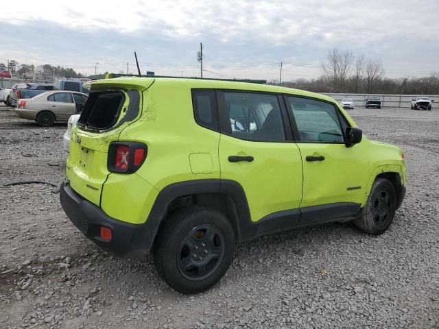
[[[151,78],[117,78],[90,84],[91,93],[71,132],[67,179],[77,193],[100,206],[108,147],[141,115],[142,92]]]

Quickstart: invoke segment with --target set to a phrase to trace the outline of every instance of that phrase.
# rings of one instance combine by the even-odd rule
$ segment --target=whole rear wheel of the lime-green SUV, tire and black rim
[[[235,232],[222,213],[185,208],[161,226],[154,244],[154,265],[172,289],[200,293],[224,276],[235,247]]]

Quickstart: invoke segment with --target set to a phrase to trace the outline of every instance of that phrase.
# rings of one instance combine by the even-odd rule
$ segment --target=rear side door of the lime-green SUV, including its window
[[[292,210],[283,225],[294,226],[300,217],[302,161],[281,96],[224,91],[218,99],[222,181],[244,188],[252,221]]]

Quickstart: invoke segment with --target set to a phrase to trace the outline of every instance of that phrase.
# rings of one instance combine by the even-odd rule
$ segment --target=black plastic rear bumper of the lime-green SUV
[[[61,205],[67,217],[91,241],[119,257],[142,258],[152,248],[156,229],[148,221],[144,224],[131,224],[118,221],[106,215],[95,204],[88,202],[76,193],[68,182],[60,188]],[[112,240],[100,237],[102,226],[112,230]]]

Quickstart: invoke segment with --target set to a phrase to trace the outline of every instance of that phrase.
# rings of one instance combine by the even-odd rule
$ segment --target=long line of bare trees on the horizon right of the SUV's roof
[[[439,72],[429,77],[385,77],[381,60],[355,55],[348,49],[330,49],[321,67],[324,74],[317,79],[282,85],[319,93],[439,94]]]

